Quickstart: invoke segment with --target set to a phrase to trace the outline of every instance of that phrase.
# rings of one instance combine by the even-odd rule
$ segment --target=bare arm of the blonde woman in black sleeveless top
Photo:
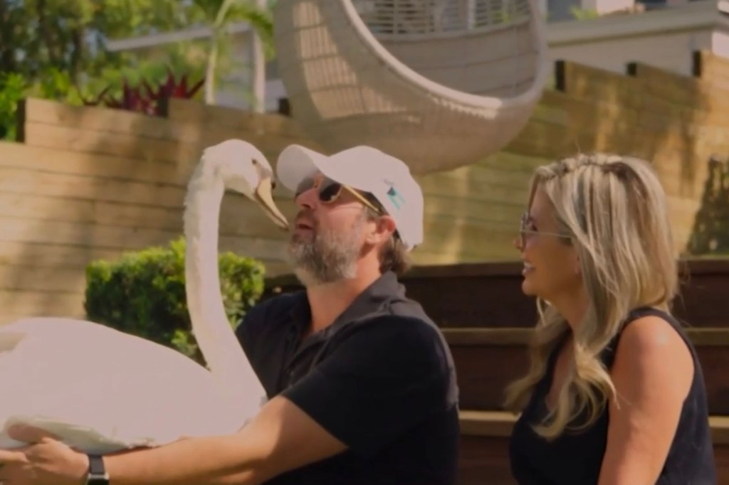
[[[653,485],[674,439],[693,381],[690,350],[671,324],[646,316],[620,336],[598,485]]]

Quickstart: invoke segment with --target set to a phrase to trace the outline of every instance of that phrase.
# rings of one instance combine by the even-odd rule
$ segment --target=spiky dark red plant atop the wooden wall
[[[205,78],[192,84],[187,85],[187,74],[180,79],[175,79],[174,74],[168,69],[167,79],[164,82],[153,87],[146,79],[141,85],[131,87],[125,79],[122,83],[122,94],[120,98],[114,98],[109,95],[110,87],[106,87],[101,91],[95,99],[83,99],[85,106],[104,105],[114,109],[125,109],[128,111],[139,111],[152,116],[160,116],[160,100],[165,98],[183,98],[190,99],[195,96],[203,87]]]

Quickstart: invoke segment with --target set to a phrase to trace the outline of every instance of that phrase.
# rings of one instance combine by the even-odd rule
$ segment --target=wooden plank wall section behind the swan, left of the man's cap
[[[166,118],[39,99],[21,110],[20,141],[0,143],[0,322],[82,316],[89,261],[178,237],[205,146],[244,138],[273,158],[289,143],[312,146],[286,117],[187,100],[171,100]],[[291,213],[290,198],[281,208]],[[220,226],[222,250],[285,270],[281,233],[243,197],[225,198]]]

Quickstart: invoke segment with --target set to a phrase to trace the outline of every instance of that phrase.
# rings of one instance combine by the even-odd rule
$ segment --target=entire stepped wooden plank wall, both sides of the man
[[[697,76],[645,65],[626,75],[558,63],[523,132],[480,162],[418,177],[426,242],[416,264],[509,261],[534,167],[604,150],[652,160],[670,195],[677,245],[685,247],[708,158],[729,154],[729,63],[695,55]],[[0,143],[0,323],[23,315],[82,316],[85,265],[162,245],[182,230],[184,186],[205,146],[252,141],[275,164],[289,143],[319,149],[276,114],[171,100],[165,117],[28,99],[20,140]],[[277,189],[288,216],[295,207]],[[269,275],[287,272],[284,234],[241,197],[227,197],[221,248],[254,256]]]

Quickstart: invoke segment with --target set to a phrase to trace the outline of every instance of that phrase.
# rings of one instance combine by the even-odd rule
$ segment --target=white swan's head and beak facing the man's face
[[[257,202],[281,229],[289,229],[286,216],[273,202],[273,168],[259,149],[243,140],[226,140],[209,146],[203,157],[214,162],[225,188]]]

